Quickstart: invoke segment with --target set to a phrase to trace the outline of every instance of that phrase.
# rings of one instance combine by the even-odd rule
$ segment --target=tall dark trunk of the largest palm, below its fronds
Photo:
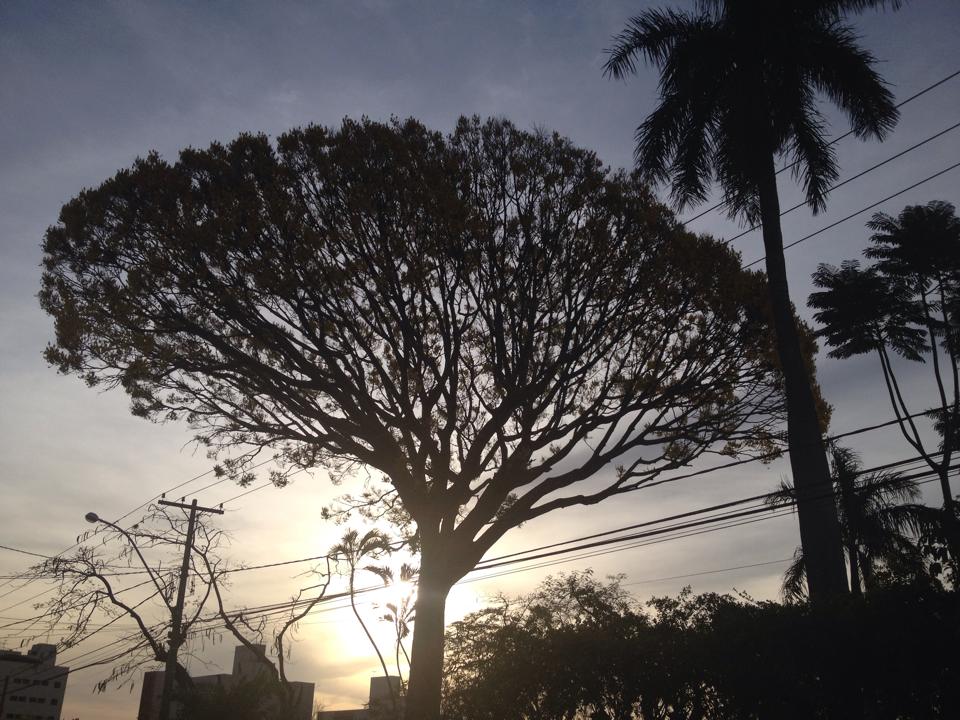
[[[810,599],[818,601],[847,593],[847,573],[830,467],[787,288],[783,233],[780,229],[780,199],[772,155],[764,158],[758,190],[777,353],[786,384],[787,444],[793,484],[797,491],[800,543],[807,564]]]

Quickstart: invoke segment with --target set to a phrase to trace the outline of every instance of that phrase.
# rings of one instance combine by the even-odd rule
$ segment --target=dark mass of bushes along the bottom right
[[[932,588],[815,607],[685,591],[644,610],[574,574],[451,626],[444,717],[949,718],[958,620],[957,596]]]

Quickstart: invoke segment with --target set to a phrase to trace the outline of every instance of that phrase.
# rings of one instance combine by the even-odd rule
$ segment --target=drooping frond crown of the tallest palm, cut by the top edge
[[[606,71],[661,70],[660,104],[637,128],[645,177],[679,208],[707,199],[716,178],[731,215],[760,220],[760,168],[785,155],[814,212],[838,176],[818,96],[846,114],[859,137],[883,137],[897,121],[875,58],[844,24],[846,12],[883,2],[710,0],[693,12],[645,10],[614,38]]]

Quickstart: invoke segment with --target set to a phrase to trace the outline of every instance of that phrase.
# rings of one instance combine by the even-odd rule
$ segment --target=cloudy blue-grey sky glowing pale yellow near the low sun
[[[0,3],[0,544],[57,553],[89,527],[84,513],[119,517],[211,467],[190,443],[186,426],[134,418],[122,393],[90,390],[44,362],[52,323],[36,299],[40,242],[64,202],[151,150],[172,159],[184,147],[228,141],[245,131],[276,136],[295,126],[336,125],[363,115],[414,116],[439,130],[452,129],[461,115],[504,116],[520,127],[555,129],[596,150],[610,166],[629,167],[634,129],[656,102],[656,73],[641,69],[626,82],[614,82],[603,77],[602,64],[611,36],[646,6],[617,0]],[[853,24],[898,99],[960,69],[955,0],[914,0],[897,13],[867,13]],[[844,119],[825,109],[832,134],[845,132]],[[906,105],[886,142],[841,141],[842,177],[949,127],[958,121],[958,109],[960,78]],[[957,161],[960,132],[952,132],[836,191],[820,216],[791,213],[784,218],[785,240]],[[960,201],[958,179],[960,170],[948,172],[876,209],[896,213],[933,199]],[[781,204],[789,207],[798,198],[788,175],[781,175]],[[787,251],[791,292],[802,316],[810,317],[805,298],[811,273],[818,263],[860,255],[868,215]],[[689,227],[718,237],[742,229],[717,213]],[[756,232],[734,246],[745,262],[762,255]],[[929,373],[922,366],[901,371],[922,409],[933,391]],[[840,362],[821,353],[819,379],[834,407],[833,431],[892,417],[873,358]],[[910,456],[893,429],[858,435],[850,444],[867,465]],[[762,493],[784,472],[782,463],[748,465],[564,511],[513,531],[490,555]],[[241,492],[228,484],[201,492],[210,482],[205,476],[178,492],[206,504]],[[924,487],[931,504],[939,502],[934,487]],[[338,492],[316,472],[285,489],[228,503],[219,522],[232,537],[231,561],[260,564],[325,552],[343,528],[324,523],[319,510]],[[784,567],[775,561],[789,557],[798,542],[796,519],[787,516],[470,582],[454,589],[448,617],[456,619],[498,592],[529,591],[550,572],[587,567],[601,577],[624,573],[628,589],[640,598],[675,593],[685,584],[698,592],[775,597]],[[30,560],[0,550],[0,575],[20,571]],[[713,572],[744,565],[755,566]],[[307,568],[236,576],[230,600],[238,607],[282,601],[315,582],[295,576]],[[0,587],[3,623],[30,616],[25,599],[43,589],[39,583],[18,587]],[[373,614],[372,605],[363,607]],[[291,677],[316,683],[317,699],[327,708],[358,706],[367,679],[378,670],[355,621],[340,609],[308,623],[293,648]],[[4,632],[0,646],[20,642]],[[104,632],[99,639],[115,637]],[[64,659],[95,649],[99,639],[65,652]],[[232,643],[197,640],[190,651],[192,671],[215,672],[205,668],[228,668]],[[92,693],[103,674],[100,669],[71,676],[64,718],[136,714],[139,685],[132,693]]]

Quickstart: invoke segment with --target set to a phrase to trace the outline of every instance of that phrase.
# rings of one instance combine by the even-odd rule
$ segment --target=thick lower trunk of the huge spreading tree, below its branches
[[[430,567],[423,548],[410,657],[406,720],[439,720],[443,677],[443,618],[447,594],[455,582]]]

